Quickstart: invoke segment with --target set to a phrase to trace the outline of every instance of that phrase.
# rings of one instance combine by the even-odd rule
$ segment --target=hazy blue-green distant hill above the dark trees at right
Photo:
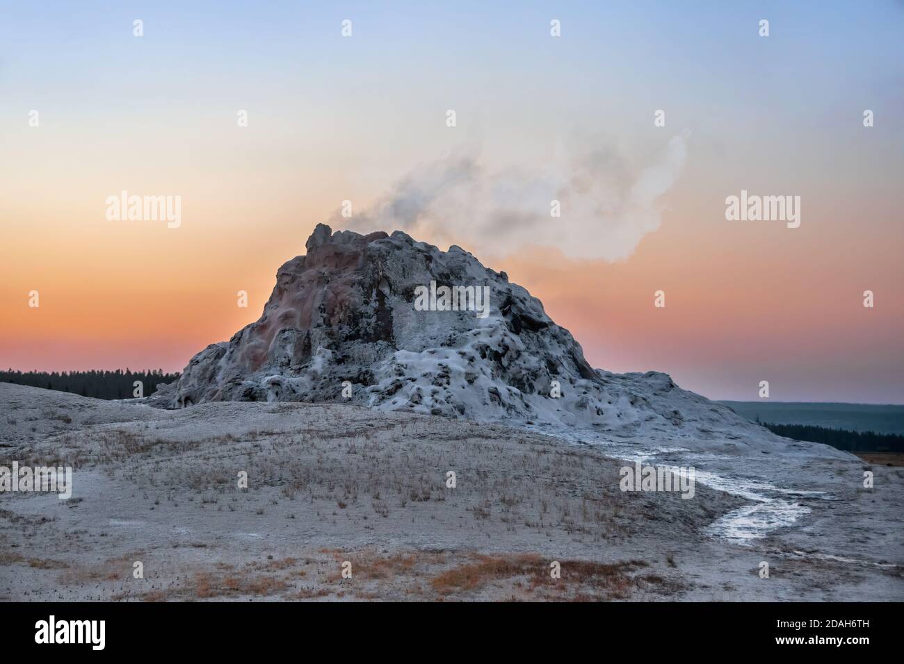
[[[783,402],[767,399],[719,403],[751,421],[904,435],[904,406]]]

